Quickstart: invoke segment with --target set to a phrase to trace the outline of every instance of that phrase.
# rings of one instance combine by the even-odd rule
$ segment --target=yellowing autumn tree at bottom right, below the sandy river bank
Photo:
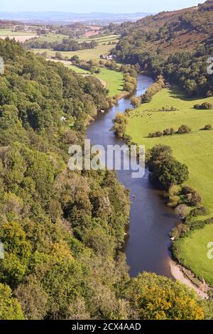
[[[133,313],[141,320],[202,320],[194,291],[163,276],[143,273],[126,290]]]

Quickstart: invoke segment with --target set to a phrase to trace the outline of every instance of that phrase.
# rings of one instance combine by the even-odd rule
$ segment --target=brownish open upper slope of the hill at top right
[[[188,9],[146,16],[136,23],[129,23],[129,26],[124,23],[123,33],[144,42],[146,50],[163,48],[164,55],[175,50],[195,50],[200,43],[212,41],[213,0]],[[145,40],[143,35],[147,36]]]

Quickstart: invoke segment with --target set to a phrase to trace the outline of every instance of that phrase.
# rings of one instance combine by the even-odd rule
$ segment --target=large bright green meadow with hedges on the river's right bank
[[[173,88],[158,92],[153,101],[143,104],[131,112],[126,133],[131,135],[134,142],[145,144],[150,149],[156,144],[169,145],[179,161],[186,163],[190,171],[187,181],[202,195],[204,205],[213,216],[213,131],[200,131],[205,124],[213,126],[213,110],[195,110],[195,103],[211,102],[207,99],[192,99],[182,95],[182,92]],[[175,107],[177,112],[157,112],[162,107]],[[149,132],[163,131],[164,129],[186,124],[192,129],[190,134],[175,134],[160,138],[148,138]],[[207,259],[207,243],[213,241],[213,225],[203,230],[193,232],[190,237],[180,239],[180,258],[198,276],[204,277],[213,285],[213,260]],[[210,279],[212,277],[212,279]],[[210,281],[209,281],[210,279]]]

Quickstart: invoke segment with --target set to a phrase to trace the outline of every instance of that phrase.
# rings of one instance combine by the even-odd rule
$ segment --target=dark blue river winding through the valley
[[[151,77],[138,75],[138,87],[134,95],[143,94],[152,83]],[[110,129],[116,113],[124,112],[128,107],[131,107],[130,97],[124,97],[117,106],[97,116],[87,129],[87,138],[92,144],[104,147],[124,145]],[[130,225],[125,244],[129,274],[136,276],[142,271],[151,271],[173,278],[168,251],[168,233],[177,225],[173,210],[160,199],[160,192],[155,190],[149,181],[148,171],[143,178],[131,178],[131,171],[118,171],[117,176],[119,181],[131,190]]]

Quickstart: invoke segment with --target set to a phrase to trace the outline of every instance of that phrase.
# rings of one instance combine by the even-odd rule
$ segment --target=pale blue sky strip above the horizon
[[[0,11],[158,13],[195,6],[203,2],[202,0],[6,0],[2,1]]]

